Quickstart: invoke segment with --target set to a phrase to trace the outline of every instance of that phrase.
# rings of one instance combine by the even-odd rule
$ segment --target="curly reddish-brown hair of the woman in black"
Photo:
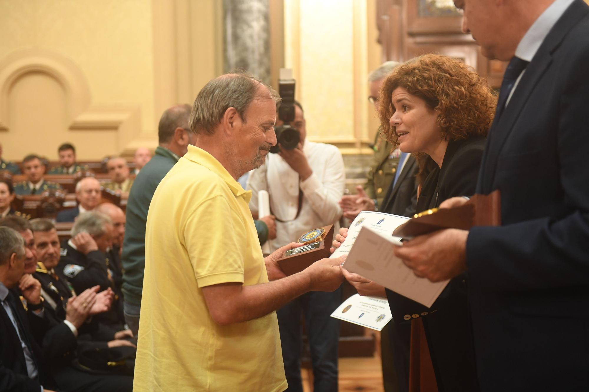
[[[382,134],[393,146],[399,143],[396,129],[389,120],[395,113],[392,93],[399,87],[423,99],[429,108],[438,112],[437,124],[442,128],[442,139],[459,140],[488,134],[495,115],[497,94],[487,80],[458,60],[426,54],[393,69],[380,90]],[[420,183],[425,179],[424,171],[429,172],[432,167],[426,158],[418,159]]]

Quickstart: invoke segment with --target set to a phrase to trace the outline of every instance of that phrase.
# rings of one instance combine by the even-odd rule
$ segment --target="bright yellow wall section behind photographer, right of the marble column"
[[[307,137],[366,152],[375,122],[368,72],[378,67],[376,0],[284,1],[284,57],[297,79]],[[376,61],[375,61],[376,58]]]

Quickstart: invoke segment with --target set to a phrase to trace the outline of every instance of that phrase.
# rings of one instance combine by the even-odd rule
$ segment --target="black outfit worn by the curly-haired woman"
[[[482,137],[450,141],[442,168],[433,170],[423,184],[417,210],[438,207],[447,198],[473,194],[484,146]],[[477,391],[465,277],[461,275],[450,281],[431,308],[391,290],[386,292],[393,320],[399,328],[411,323],[409,320],[413,318],[423,317],[438,390]]]

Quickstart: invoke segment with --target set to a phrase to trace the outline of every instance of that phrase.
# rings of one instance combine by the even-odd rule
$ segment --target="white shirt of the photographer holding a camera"
[[[270,208],[276,218],[276,239],[271,241],[270,251],[275,251],[314,228],[335,224],[339,230],[342,208],[338,202],[346,187],[346,171],[342,153],[331,144],[309,140],[303,145],[303,152],[313,170],[305,181],[300,182],[303,191],[303,205],[299,217],[299,174],[278,154],[268,154],[266,163],[252,171],[247,180],[247,189],[252,190],[250,210],[257,212],[260,190],[270,194]]]

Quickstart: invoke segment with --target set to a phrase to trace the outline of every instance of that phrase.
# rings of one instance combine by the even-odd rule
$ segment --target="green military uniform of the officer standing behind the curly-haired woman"
[[[376,200],[377,210],[382,205],[382,200],[385,198],[389,185],[395,179],[397,166],[399,165],[401,152],[399,150],[391,152],[392,148],[393,145],[380,136],[379,129],[376,132],[374,141],[374,157],[368,171],[368,181],[364,185],[364,191],[368,197]]]

